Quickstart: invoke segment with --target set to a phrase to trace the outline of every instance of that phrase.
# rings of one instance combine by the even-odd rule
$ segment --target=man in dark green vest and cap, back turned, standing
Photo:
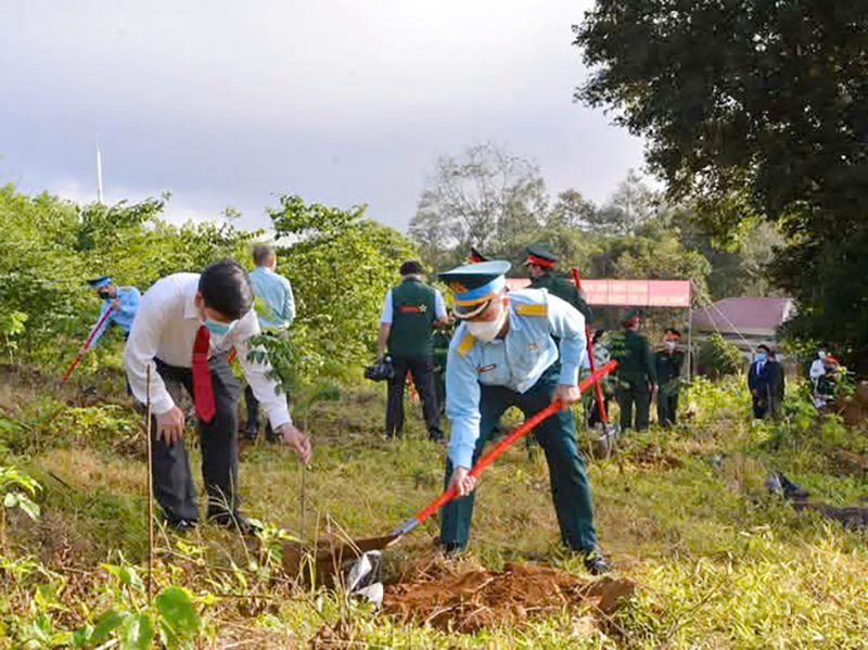
[[[388,380],[386,435],[393,437],[404,431],[404,387],[410,372],[422,398],[429,437],[439,441],[443,432],[434,388],[432,332],[435,324],[448,322],[448,315],[443,294],[422,282],[422,272],[418,262],[405,262],[400,267],[400,284],[386,293],[380,317],[376,358],[379,362],[383,361],[387,345],[395,374]]]

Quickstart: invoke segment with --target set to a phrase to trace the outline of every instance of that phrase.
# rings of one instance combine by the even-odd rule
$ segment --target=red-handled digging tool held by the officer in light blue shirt
[[[605,366],[589,374],[578,385],[579,392],[584,393],[589,387],[598,383],[603,377],[612,372],[616,366],[617,361],[609,361]],[[506,451],[507,448],[509,448],[515,441],[527,435],[527,433],[531,432],[534,426],[539,424],[546,418],[554,415],[562,407],[563,404],[561,402],[553,402],[534,417],[526,420],[521,426],[516,428],[512,433],[501,439],[494,447],[494,449],[483,456],[470,470],[470,474],[478,479],[483,470],[492,464],[495,459],[503,454],[503,451]],[[356,539],[352,541],[320,541],[316,548],[316,556],[314,556],[312,550],[305,549],[298,543],[288,541],[283,547],[283,569],[290,576],[296,577],[303,572],[303,565],[306,561],[309,561],[309,558],[316,562],[316,566],[314,568],[316,575],[319,576],[321,582],[328,584],[344,561],[355,560],[368,551],[383,550],[394,546],[405,535],[413,532],[437,510],[456,498],[456,496],[457,490],[455,487],[448,488],[441,496],[420,510],[414,517],[411,517],[399,526],[393,528],[385,537],[371,537],[369,539]]]

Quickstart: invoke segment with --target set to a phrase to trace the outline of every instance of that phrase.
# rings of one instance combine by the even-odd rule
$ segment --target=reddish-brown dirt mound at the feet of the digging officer
[[[537,564],[507,563],[502,572],[459,571],[446,562],[418,565],[386,585],[383,610],[401,623],[431,624],[473,633],[498,625],[520,626],[564,607],[588,607],[604,619],[633,596],[636,583],[604,577],[584,581]]]

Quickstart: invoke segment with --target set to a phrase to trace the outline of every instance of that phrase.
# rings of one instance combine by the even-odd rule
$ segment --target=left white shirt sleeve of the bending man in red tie
[[[163,334],[162,326],[175,297],[173,291],[174,285],[166,283],[154,285],[144,294],[132,321],[129,340],[124,346],[124,368],[129,387],[142,404],[148,404],[148,366],[151,366],[151,410],[157,416],[175,407],[175,400],[154,367]]]

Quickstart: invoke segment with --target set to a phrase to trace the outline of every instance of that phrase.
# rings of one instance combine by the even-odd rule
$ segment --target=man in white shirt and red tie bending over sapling
[[[179,531],[199,520],[196,493],[183,444],[181,387],[194,398],[202,443],[202,474],[207,518],[253,531],[238,512],[239,381],[228,354],[238,358],[248,384],[265,407],[271,426],[298,454],[310,458],[310,442],[292,422],[286,396],[267,377],[269,364],[247,360],[247,340],[259,333],[250,276],[234,260],[209,265],[202,275],[176,273],[156,282],[142,297],[124,354],[133,395],[148,399],[151,371],[154,413],[154,496],[169,525]]]

